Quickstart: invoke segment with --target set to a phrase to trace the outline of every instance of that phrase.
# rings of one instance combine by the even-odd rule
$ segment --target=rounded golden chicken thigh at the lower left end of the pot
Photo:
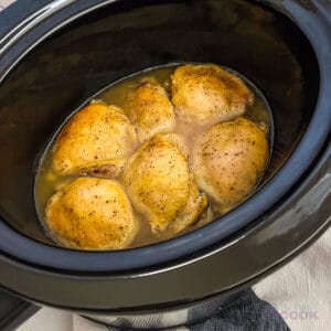
[[[125,248],[139,227],[121,185],[97,178],[78,178],[55,193],[45,217],[57,243],[79,249]]]

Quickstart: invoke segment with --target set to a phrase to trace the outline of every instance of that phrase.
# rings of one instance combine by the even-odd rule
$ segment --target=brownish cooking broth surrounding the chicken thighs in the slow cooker
[[[156,68],[149,68],[143,72],[139,72],[137,74],[130,75],[119,82],[116,82],[102,90],[97,96],[94,97],[96,102],[94,103],[103,103],[106,105],[114,105],[116,107],[119,107],[124,109],[124,115],[128,116],[128,105],[130,102],[131,95],[137,90],[141,84],[145,82],[151,82],[151,84],[159,84],[162,88],[164,88],[169,99],[171,100],[172,96],[172,83],[171,83],[171,76],[173,75],[174,71],[179,67],[179,64],[173,65],[167,65],[163,67],[156,67]],[[269,109],[269,106],[264,98],[263,94],[259,92],[259,89],[252,84],[249,81],[247,81],[245,77],[238,75],[237,73],[233,71],[228,71],[232,74],[235,74],[236,76],[241,77],[246,86],[249,88],[249,90],[254,94],[255,102],[253,105],[249,105],[242,116],[243,118],[249,119],[253,122],[257,124],[259,128],[261,128],[267,136],[268,141],[268,149],[271,150],[273,146],[273,118],[271,113]],[[62,125],[62,127],[54,134],[52,139],[50,140],[50,143],[47,145],[36,170],[36,177],[35,177],[35,207],[39,215],[39,218],[41,221],[41,224],[43,225],[43,228],[45,229],[46,234],[57,244],[68,246],[72,248],[77,249],[98,249],[93,247],[84,247],[82,243],[76,242],[75,247],[73,247],[70,243],[66,243],[65,241],[58,241],[58,237],[50,231],[50,227],[47,225],[46,220],[46,206],[47,203],[50,203],[50,199],[56,193],[62,192],[65,190],[68,185],[71,185],[75,180],[78,178],[85,177],[85,178],[109,178],[108,175],[104,175],[103,172],[77,172],[77,173],[60,173],[58,171],[54,170],[54,148],[56,145],[56,141],[58,139],[58,136],[61,132],[66,128],[67,124],[72,120],[72,118],[78,114],[83,108],[79,108],[77,111],[73,111],[68,118],[66,119],[65,124]],[[177,108],[174,107],[174,110]],[[181,118],[180,116],[175,116],[175,125],[174,127],[167,131],[166,134],[177,134],[180,135],[180,137],[184,137],[183,141],[185,145],[185,152],[189,154],[189,167],[190,171],[192,171],[191,166],[191,158],[192,158],[192,150],[194,149],[194,145],[197,141],[197,138],[203,136],[205,132],[211,130],[213,126],[216,126],[216,124],[213,125],[203,125],[199,121],[189,121],[185,118]],[[137,129],[137,125],[135,127]],[[166,135],[164,134],[164,135]],[[148,142],[150,139],[153,139],[152,137],[149,139],[146,139]],[[146,141],[139,141],[139,143],[135,141],[125,141],[125,143],[128,143],[127,147],[132,152],[130,153],[130,158],[132,154],[137,152],[141,148],[143,143],[147,143]],[[84,148],[84,146],[82,146]],[[268,159],[270,157],[270,153],[268,154]],[[268,162],[266,160],[266,162]],[[253,162],[254,163],[254,162]],[[128,164],[125,164],[124,167],[129,167]],[[266,167],[265,167],[266,168]],[[138,174],[137,174],[138,175]],[[235,175],[235,174],[234,174]],[[258,181],[254,184],[254,190],[256,190],[256,186],[258,182],[260,181],[263,175],[259,175]],[[118,174],[111,175],[111,181],[116,180],[120,182],[120,188],[122,188],[124,192],[127,191],[126,185],[124,184],[122,179],[122,171],[120,171]],[[200,213],[200,215],[196,217],[192,224],[189,224],[188,226],[184,226],[181,231],[174,232],[172,227],[166,227],[161,231],[153,231],[151,226],[151,222],[149,220],[148,213],[141,212],[141,209],[137,207],[135,203],[132,203],[132,212],[136,218],[136,222],[139,223],[137,234],[135,234],[135,239],[130,241],[126,247],[120,248],[132,248],[132,247],[140,247],[158,242],[162,242],[166,239],[169,239],[171,237],[174,237],[177,235],[193,231],[195,228],[199,228],[200,226],[203,226],[207,224],[209,222],[212,222],[220,216],[222,216],[224,213],[228,212],[233,207],[237,205],[237,203],[215,203],[214,196],[211,196],[209,193],[204,192],[202,190],[201,185],[199,185],[200,194],[204,194],[207,197],[207,206],[204,207],[204,210]],[[253,193],[250,192],[250,193]],[[245,200],[247,196],[245,196],[243,200]],[[129,199],[131,202],[131,199]],[[77,224],[77,223],[76,223]],[[136,225],[135,225],[136,226]],[[159,225],[158,225],[159,226]],[[162,226],[162,225],[160,225]],[[77,224],[77,227],[79,227],[79,224]],[[120,226],[121,227],[121,226]],[[160,228],[160,227],[158,227]],[[72,229],[71,229],[72,231]],[[107,249],[107,248],[106,248]],[[111,248],[113,249],[113,248]],[[114,249],[117,249],[115,247]]]

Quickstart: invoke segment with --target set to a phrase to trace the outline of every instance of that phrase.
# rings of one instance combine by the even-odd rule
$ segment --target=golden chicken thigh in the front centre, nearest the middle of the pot
[[[122,183],[153,233],[178,233],[196,222],[207,205],[175,135],[157,134],[129,159]]]

